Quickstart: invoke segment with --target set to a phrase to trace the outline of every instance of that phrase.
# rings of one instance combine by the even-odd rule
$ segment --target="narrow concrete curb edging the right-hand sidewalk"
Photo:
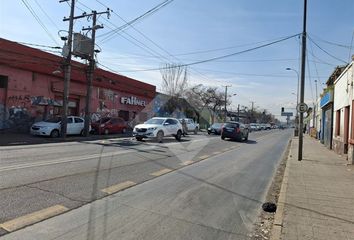
[[[274,216],[273,227],[271,230],[270,240],[280,240],[281,231],[283,227],[283,218],[284,218],[284,207],[286,200],[286,191],[288,187],[289,180],[289,160],[292,159],[291,146],[293,144],[294,139],[291,140],[289,144],[289,154],[286,160],[286,166],[284,170],[283,181],[280,188],[278,203],[277,203],[277,211]]]

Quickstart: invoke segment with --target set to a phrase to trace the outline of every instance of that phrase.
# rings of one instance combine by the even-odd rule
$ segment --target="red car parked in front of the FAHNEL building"
[[[129,126],[123,118],[104,117],[91,123],[92,131],[97,134],[126,133]]]

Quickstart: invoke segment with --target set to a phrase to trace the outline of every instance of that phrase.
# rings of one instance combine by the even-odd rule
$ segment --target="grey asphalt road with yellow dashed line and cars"
[[[290,135],[272,130],[252,133],[248,142],[198,134],[180,143],[106,139],[1,147],[0,234],[246,239]],[[48,216],[67,212],[21,228],[46,216],[31,214],[53,208]]]

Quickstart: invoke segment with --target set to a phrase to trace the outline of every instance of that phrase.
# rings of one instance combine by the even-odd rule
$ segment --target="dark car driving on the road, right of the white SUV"
[[[249,129],[239,122],[226,122],[221,129],[221,139],[230,138],[237,141],[248,140]]]

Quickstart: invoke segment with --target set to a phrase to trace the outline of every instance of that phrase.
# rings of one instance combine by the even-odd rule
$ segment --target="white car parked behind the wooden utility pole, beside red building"
[[[67,135],[83,134],[85,125],[85,120],[83,118],[76,116],[68,116],[67,123]],[[60,136],[60,126],[60,117],[55,117],[42,122],[36,122],[31,126],[31,134],[56,138]]]

